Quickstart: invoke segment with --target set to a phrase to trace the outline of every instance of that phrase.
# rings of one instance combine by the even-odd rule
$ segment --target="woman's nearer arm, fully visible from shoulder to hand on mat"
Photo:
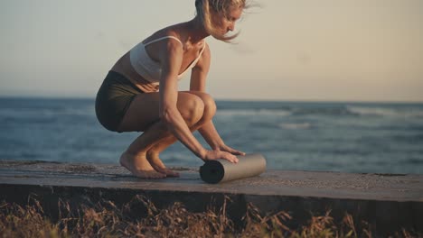
[[[227,154],[207,151],[198,142],[183,116],[177,109],[178,90],[177,75],[183,59],[183,48],[177,41],[166,41],[166,47],[159,52],[162,64],[162,78],[160,80],[160,117],[174,136],[190,151],[202,160],[226,159],[236,162],[238,159]]]

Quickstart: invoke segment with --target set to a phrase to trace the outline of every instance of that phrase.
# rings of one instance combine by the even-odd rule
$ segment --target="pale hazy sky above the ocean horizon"
[[[255,3],[235,44],[207,38],[211,96],[423,102],[423,1]],[[94,98],[127,50],[194,11],[194,0],[0,1],[0,96]]]

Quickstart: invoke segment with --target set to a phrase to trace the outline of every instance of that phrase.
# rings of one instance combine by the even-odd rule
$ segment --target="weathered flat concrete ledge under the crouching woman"
[[[370,223],[377,234],[401,228],[423,232],[423,175],[268,170],[256,178],[209,185],[198,169],[174,169],[180,178],[147,180],[117,165],[0,160],[0,200],[25,205],[32,196],[54,217],[59,199],[124,204],[142,195],[158,207],[181,202],[202,212],[229,197],[228,213],[235,222],[251,203],[263,213],[289,212],[294,225],[304,224],[310,213],[322,215],[331,209],[335,219],[349,213],[354,221]]]

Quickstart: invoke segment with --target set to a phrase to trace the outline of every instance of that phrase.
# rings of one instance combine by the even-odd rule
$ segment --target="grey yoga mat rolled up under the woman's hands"
[[[216,184],[234,179],[258,176],[266,170],[266,159],[258,153],[237,156],[238,163],[229,160],[207,160],[200,167],[200,177],[204,182]]]

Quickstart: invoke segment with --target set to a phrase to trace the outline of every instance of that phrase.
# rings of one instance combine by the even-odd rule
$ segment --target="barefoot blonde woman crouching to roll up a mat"
[[[193,20],[155,32],[129,50],[108,72],[96,99],[100,124],[114,132],[144,132],[120,157],[120,164],[139,178],[178,177],[159,154],[179,140],[202,160],[238,162],[245,153],[227,146],[211,118],[214,100],[205,93],[211,53],[209,35],[230,41],[246,0],[196,0]],[[192,70],[190,91],[177,83]],[[193,136],[198,130],[212,151]]]

